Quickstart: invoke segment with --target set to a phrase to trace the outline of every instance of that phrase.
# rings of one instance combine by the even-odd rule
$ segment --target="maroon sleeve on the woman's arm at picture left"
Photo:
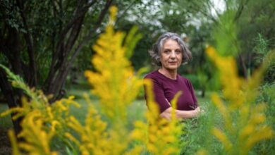
[[[153,83],[154,101],[156,101],[157,104],[159,105],[159,112],[162,113],[166,109],[171,107],[169,104],[169,101],[167,101],[166,97],[164,96],[164,89],[161,86],[161,83],[159,83],[154,78],[145,77],[145,79],[149,79]],[[146,103],[147,103],[147,89],[146,89],[145,85],[144,85],[144,87],[145,87],[145,99],[146,99]],[[147,107],[148,107],[148,103],[147,103]]]

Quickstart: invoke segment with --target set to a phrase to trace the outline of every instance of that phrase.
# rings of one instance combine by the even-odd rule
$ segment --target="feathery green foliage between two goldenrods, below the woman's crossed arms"
[[[205,113],[198,118],[185,120],[181,140],[185,144],[181,154],[195,154],[198,150],[207,149],[208,154],[222,154],[221,144],[211,135],[213,125],[221,125],[221,115],[209,101],[200,102]],[[211,149],[209,149],[211,148]]]

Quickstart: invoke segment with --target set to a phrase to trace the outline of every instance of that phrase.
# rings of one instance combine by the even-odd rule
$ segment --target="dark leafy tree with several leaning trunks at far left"
[[[101,32],[113,4],[106,0],[0,1],[0,60],[27,85],[63,96],[63,85],[75,58]],[[130,7],[130,6],[129,6]],[[13,89],[0,69],[0,88],[8,106],[20,106],[23,92]],[[13,122],[16,129],[19,123]],[[18,131],[18,130],[17,130]]]

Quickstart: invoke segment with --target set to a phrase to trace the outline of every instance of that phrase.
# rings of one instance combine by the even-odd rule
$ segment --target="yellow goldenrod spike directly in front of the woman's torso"
[[[171,121],[159,117],[159,106],[154,101],[153,83],[150,80],[144,81],[147,92],[147,106],[149,111],[146,113],[148,124],[140,121],[135,122],[135,130],[131,137],[139,142],[145,143],[147,150],[152,154],[179,154],[179,135],[181,126],[176,120],[175,111],[172,112]],[[176,109],[176,102],[181,92],[178,92],[171,104]]]

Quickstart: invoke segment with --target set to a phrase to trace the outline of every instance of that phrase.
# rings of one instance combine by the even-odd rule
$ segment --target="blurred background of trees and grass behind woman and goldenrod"
[[[159,35],[181,35],[193,60],[181,66],[179,73],[193,82],[202,102],[209,101],[209,92],[221,89],[216,69],[204,51],[207,45],[221,55],[236,58],[238,73],[244,79],[250,78],[269,51],[274,51],[274,0],[1,0],[0,63],[30,87],[52,94],[52,101],[70,94],[78,99],[90,89],[83,72],[94,70],[91,47],[103,32],[113,5],[118,7],[116,30],[128,32],[135,25],[142,34],[130,58],[135,70],[156,69],[148,50]],[[271,62],[260,88],[269,94],[262,94],[259,101],[271,101],[274,89],[269,86],[274,80],[275,63]],[[0,68],[0,112],[20,106],[22,94],[11,87]],[[146,109],[142,90],[139,99],[138,106],[130,108]],[[142,117],[137,115],[134,113],[133,119]],[[274,126],[274,120],[271,123]],[[1,118],[0,132],[10,127],[11,118]],[[1,144],[5,140],[5,134],[0,135],[0,146],[5,146]]]

